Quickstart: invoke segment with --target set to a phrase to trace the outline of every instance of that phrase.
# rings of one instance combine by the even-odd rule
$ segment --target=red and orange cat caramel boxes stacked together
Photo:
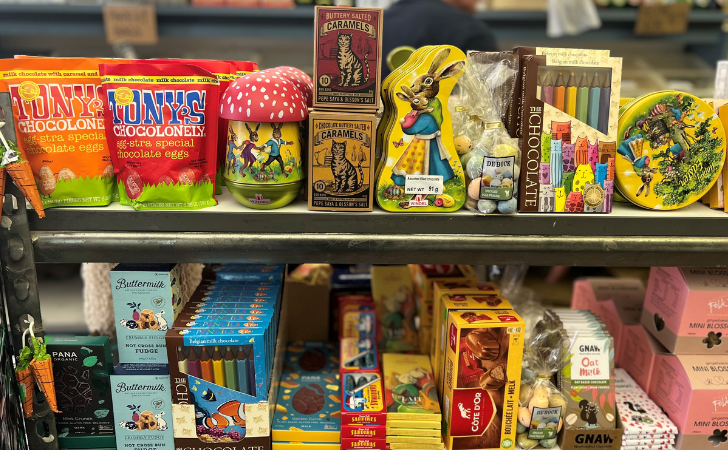
[[[380,107],[382,10],[316,7],[308,205],[371,211]]]

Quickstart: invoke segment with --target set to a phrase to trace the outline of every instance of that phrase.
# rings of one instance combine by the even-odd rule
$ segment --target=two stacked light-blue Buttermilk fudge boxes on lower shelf
[[[177,264],[111,271],[119,365],[111,374],[116,447],[174,449],[164,336],[185,306]]]

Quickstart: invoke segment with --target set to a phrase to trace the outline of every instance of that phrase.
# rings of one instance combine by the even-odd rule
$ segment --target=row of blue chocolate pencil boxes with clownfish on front
[[[257,292],[257,283],[275,295],[241,295]],[[270,450],[286,311],[280,282],[268,283],[205,281],[167,332],[175,447]]]

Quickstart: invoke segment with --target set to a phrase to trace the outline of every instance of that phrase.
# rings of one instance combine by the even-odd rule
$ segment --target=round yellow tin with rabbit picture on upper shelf
[[[725,131],[703,100],[660,91],[623,106],[616,186],[646,209],[672,210],[710,190],[725,161]]]

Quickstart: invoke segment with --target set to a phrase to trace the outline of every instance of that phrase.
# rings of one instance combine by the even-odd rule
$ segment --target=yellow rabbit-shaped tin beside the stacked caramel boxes
[[[450,212],[465,202],[465,176],[453,144],[447,101],[465,68],[452,46],[430,51],[389,89],[396,120],[385,132],[377,202],[392,212]]]

